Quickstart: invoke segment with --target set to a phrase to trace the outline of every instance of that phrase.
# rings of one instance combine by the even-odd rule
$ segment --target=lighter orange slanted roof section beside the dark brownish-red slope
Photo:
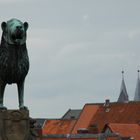
[[[77,133],[77,130],[79,128],[88,128],[92,118],[96,114],[97,110],[99,108],[99,105],[91,105],[86,104],[80,114],[79,119],[77,120],[75,127],[72,131],[73,134]]]

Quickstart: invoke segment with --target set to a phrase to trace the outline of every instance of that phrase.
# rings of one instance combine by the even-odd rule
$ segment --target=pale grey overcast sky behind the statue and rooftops
[[[122,69],[133,100],[139,0],[0,0],[0,22],[11,18],[29,23],[25,105],[32,117],[56,118],[85,103],[116,101]],[[7,85],[9,109],[18,107],[17,95],[16,85]]]

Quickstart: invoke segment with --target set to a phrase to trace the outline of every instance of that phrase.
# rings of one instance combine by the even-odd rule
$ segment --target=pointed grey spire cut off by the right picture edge
[[[139,72],[140,72],[140,70],[138,70],[138,79],[137,79],[137,85],[136,85],[136,90],[135,90],[134,101],[140,101],[140,78],[139,78]]]

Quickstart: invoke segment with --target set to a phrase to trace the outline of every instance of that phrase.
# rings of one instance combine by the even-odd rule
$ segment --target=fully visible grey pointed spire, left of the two
[[[118,102],[127,102],[127,101],[129,101],[129,99],[128,99],[128,94],[124,82],[124,71],[122,71],[122,83],[121,83],[121,90],[120,90]]]

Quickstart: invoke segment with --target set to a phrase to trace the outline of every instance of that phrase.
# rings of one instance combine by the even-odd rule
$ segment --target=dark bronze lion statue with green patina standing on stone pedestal
[[[2,22],[0,44],[0,109],[3,105],[6,84],[16,83],[18,88],[19,108],[24,106],[24,81],[29,70],[29,58],[26,48],[27,22],[11,19]]]

